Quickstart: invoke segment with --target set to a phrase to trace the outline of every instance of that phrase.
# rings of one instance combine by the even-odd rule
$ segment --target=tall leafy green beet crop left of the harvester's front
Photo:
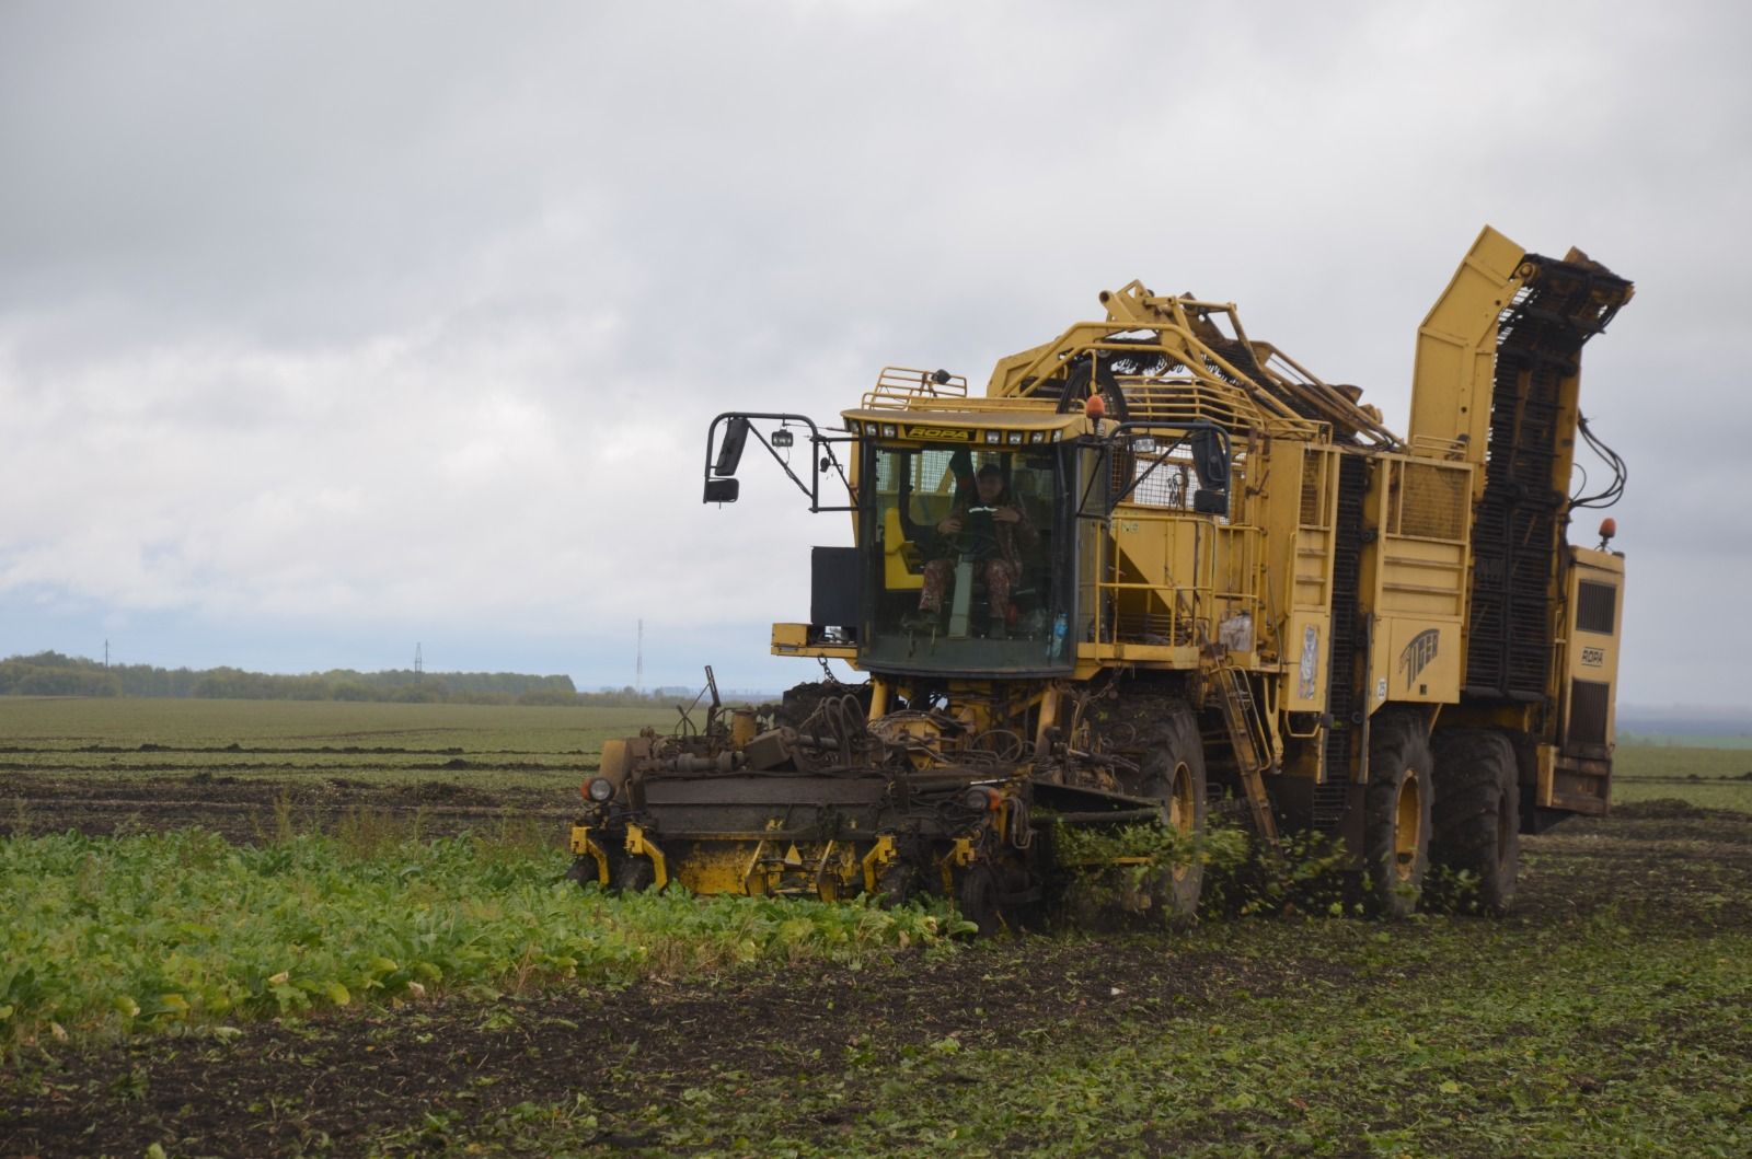
[[[0,1042],[431,998],[858,961],[944,916],[557,881],[548,847],[473,837],[235,847],[180,830],[0,842]]]

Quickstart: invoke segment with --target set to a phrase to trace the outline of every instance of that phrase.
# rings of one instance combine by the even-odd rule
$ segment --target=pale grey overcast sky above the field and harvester
[[[983,382],[1132,278],[1403,431],[1479,228],[1636,282],[1621,702],[1752,704],[1741,4],[0,5],[0,655],[781,688],[725,410]],[[1573,532],[1591,541],[1589,529]]]

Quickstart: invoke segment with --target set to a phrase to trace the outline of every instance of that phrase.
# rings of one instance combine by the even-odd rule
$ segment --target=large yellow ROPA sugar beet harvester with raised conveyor
[[[1207,802],[1261,840],[1342,837],[1405,914],[1430,861],[1510,905],[1519,833],[1603,814],[1624,560],[1572,546],[1622,490],[1577,404],[1631,284],[1486,228],[1417,333],[1410,432],[1247,336],[1233,305],[1104,292],[1106,319],[1002,359],[985,397],[885,369],[841,425],[727,413],[853,548],[815,548],[773,651],[869,672],[703,730],[604,746],[573,875],[624,889],[957,898],[993,930],[1106,849],[1130,909],[1183,917]],[[1614,481],[1573,497],[1575,441]],[[823,485],[844,502],[823,502]],[[832,501],[829,501],[832,502]],[[1149,826],[1139,830],[1137,826]],[[1160,868],[1158,868],[1160,867]]]

